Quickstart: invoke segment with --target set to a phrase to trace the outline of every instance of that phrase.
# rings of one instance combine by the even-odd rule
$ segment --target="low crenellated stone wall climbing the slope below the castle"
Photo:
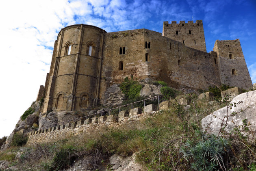
[[[129,112],[121,111],[118,116],[108,115],[88,118],[86,120],[76,121],[74,123],[65,123],[63,125],[56,125],[52,128],[29,132],[27,145],[33,143],[47,143],[54,142],[65,137],[75,136],[82,134],[83,132],[90,132],[92,130],[98,130],[104,126],[107,127],[118,127],[124,123],[131,123],[139,121],[145,117],[155,115],[157,106],[150,104],[144,107],[144,113],[141,108],[133,108]]]

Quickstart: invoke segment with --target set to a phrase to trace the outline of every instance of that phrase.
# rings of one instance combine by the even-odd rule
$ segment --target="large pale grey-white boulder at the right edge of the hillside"
[[[242,103],[236,104],[234,107],[235,102]],[[228,113],[227,107],[223,107],[202,119],[202,128],[208,133],[218,135],[221,128],[226,132],[232,132],[234,128],[240,126],[239,129],[244,134],[256,136],[256,91],[240,94],[234,97],[230,104],[233,106],[228,108]],[[222,123],[223,126],[221,126]],[[248,128],[252,132],[243,129],[245,123],[250,124]]]

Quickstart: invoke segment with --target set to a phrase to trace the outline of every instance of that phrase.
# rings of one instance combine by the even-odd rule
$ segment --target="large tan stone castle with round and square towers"
[[[37,100],[44,96],[42,113],[83,111],[101,103],[111,84],[131,76],[162,80],[176,89],[252,87],[239,39],[217,40],[207,53],[202,20],[163,22],[163,35],[147,29],[106,32],[79,24],[59,32]]]

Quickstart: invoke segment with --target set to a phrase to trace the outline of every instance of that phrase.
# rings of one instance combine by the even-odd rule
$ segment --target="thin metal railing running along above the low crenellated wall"
[[[91,114],[91,115],[87,115],[87,116],[84,116],[84,117],[79,117],[79,118],[69,119],[69,120],[65,120],[65,121],[60,121],[60,122],[58,122],[58,123],[52,123],[52,124],[50,124],[50,125],[43,126],[43,127],[41,127],[41,128],[35,128],[35,129],[32,129],[32,130],[34,130],[34,131],[35,131],[35,130],[44,130],[45,128],[46,128],[46,129],[52,128],[52,126],[55,127],[55,126],[64,125],[64,123],[69,123],[70,121],[75,122],[76,120],[77,120],[77,121],[80,121],[80,120],[82,120],[82,119],[88,119],[88,118],[90,118],[90,117],[93,116],[93,115],[94,115],[94,117],[96,117],[96,115],[99,116],[99,114],[100,114],[101,116],[103,116],[103,115],[104,115],[105,113],[107,113],[107,112],[108,112],[108,114],[110,114],[112,110],[115,110],[115,109],[117,109],[117,108],[119,108],[119,112],[121,112],[121,107],[129,106],[129,105],[131,105],[131,107],[132,107],[132,109],[133,109],[133,104],[136,104],[136,103],[139,103],[139,102],[144,102],[144,107],[145,107],[145,100],[154,99],[154,98],[156,98],[156,97],[157,97],[157,100],[158,100],[158,110],[159,110],[160,96],[161,96],[161,95],[157,95],[157,96],[150,97],[150,98],[147,98],[147,99],[144,99],[144,100],[140,100],[140,101],[137,101],[137,102],[132,102],[132,103],[129,103],[129,104],[125,104],[125,105],[123,105],[123,106],[118,106],[118,107],[116,107],[116,108],[104,110],[104,111],[101,111],[101,112],[98,112],[98,113],[93,113],[93,114]],[[107,115],[107,114],[106,114],[106,115]]]

